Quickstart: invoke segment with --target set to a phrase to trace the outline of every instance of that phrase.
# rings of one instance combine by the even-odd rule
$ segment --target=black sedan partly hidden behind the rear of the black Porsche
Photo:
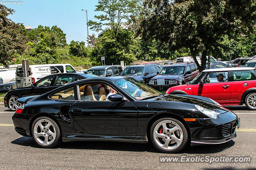
[[[4,106],[8,107],[12,111],[15,111],[19,106],[19,103],[17,102],[18,98],[24,96],[41,95],[55,88],[58,88],[64,84],[92,77],[97,76],[93,74],[84,73],[51,74],[49,76],[41,78],[29,87],[16,88],[7,92],[4,96]]]

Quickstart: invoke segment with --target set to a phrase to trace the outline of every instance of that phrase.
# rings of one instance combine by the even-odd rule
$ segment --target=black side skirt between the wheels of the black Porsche
[[[148,138],[146,136],[66,135],[62,137],[62,141],[116,141],[128,143],[148,143]]]

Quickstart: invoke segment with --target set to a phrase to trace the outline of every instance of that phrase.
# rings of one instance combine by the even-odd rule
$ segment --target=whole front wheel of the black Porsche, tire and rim
[[[188,142],[188,133],[183,123],[174,118],[162,118],[150,128],[150,139],[156,149],[165,153],[176,153]]]

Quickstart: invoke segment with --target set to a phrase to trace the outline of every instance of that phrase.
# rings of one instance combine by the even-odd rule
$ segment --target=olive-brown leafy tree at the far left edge
[[[0,4],[0,63],[8,66],[15,54],[25,52],[28,39],[24,26],[8,18],[14,10]]]

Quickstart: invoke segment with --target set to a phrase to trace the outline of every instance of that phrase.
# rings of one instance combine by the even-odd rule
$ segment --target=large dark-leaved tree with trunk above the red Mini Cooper
[[[256,21],[255,0],[145,0],[144,5],[137,28],[143,38],[154,37],[172,50],[190,49],[200,71],[224,35],[254,31]]]

